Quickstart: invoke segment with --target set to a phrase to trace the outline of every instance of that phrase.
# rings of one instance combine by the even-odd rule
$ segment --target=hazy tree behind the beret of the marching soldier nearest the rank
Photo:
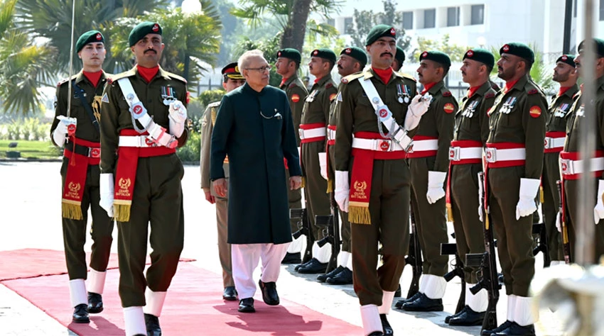
[[[397,45],[403,50],[409,49],[411,37],[405,34],[402,28],[403,13],[397,12],[397,2],[392,0],[383,0],[384,11],[374,13],[374,11],[357,11],[353,14],[352,26],[347,27],[350,30],[352,45],[365,47],[365,38],[371,28],[377,24],[385,24],[397,28]]]

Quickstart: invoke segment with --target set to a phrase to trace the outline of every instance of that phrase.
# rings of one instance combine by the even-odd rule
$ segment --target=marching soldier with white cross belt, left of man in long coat
[[[161,335],[158,317],[183,250],[184,169],[176,147],[188,138],[188,93],[185,79],[159,67],[161,33],[149,21],[131,30],[136,66],[117,74],[102,97],[100,204],[117,220],[126,336]]]

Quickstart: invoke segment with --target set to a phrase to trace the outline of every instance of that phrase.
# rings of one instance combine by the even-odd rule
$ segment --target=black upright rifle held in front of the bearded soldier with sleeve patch
[[[493,231],[490,226],[489,209],[485,205],[485,195],[487,194],[487,185],[485,184],[485,174],[478,173],[478,183],[483,186],[480,193],[480,206],[482,206],[482,224],[484,225],[485,252],[465,254],[465,264],[469,267],[479,267],[478,284],[470,288],[473,294],[481,289],[486,289],[489,294],[489,305],[485,312],[485,319],[482,320],[482,330],[492,330],[497,327],[497,301],[499,301],[499,290],[501,285],[498,280],[497,262],[495,261],[495,242],[493,241]]]

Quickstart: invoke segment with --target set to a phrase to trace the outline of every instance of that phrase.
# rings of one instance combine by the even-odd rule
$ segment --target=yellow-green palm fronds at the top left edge
[[[0,100],[4,113],[38,110],[38,87],[50,83],[53,50],[16,28],[17,0],[0,0]]]

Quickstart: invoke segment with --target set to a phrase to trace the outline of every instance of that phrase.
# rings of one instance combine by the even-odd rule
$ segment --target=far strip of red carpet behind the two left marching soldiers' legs
[[[90,262],[90,253],[86,254]],[[67,273],[65,252],[57,250],[23,249],[0,251],[0,281],[35,278],[36,276]],[[193,259],[180,259],[190,262]],[[147,257],[147,264],[150,263]],[[111,254],[107,269],[117,269],[117,254]]]

